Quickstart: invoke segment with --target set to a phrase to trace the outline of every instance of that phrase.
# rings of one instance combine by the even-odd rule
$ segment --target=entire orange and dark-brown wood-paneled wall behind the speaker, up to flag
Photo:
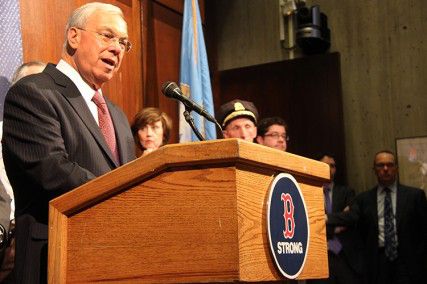
[[[70,13],[88,0],[21,0],[24,61],[57,63]],[[178,103],[161,94],[166,81],[179,80],[183,0],[111,0],[123,10],[132,50],[125,54],[118,74],[103,87],[131,122],[147,106],[171,116],[170,142],[178,142]],[[202,19],[204,1],[199,0]]]

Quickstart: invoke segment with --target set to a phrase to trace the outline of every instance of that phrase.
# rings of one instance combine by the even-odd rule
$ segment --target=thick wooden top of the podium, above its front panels
[[[241,139],[220,139],[165,145],[53,199],[50,206],[69,215],[163,171],[232,164],[288,172],[319,182],[329,180],[329,166],[325,163]]]

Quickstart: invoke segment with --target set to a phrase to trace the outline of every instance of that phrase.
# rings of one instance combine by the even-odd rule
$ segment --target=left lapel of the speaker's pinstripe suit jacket
[[[102,135],[98,124],[93,118],[92,113],[90,112],[85,100],[83,99],[83,96],[80,94],[80,91],[77,89],[76,85],[62,72],[57,70],[54,65],[49,64],[45,69],[45,72],[47,72],[54,79],[56,84],[63,87],[61,94],[73,107],[74,111],[89,129],[98,145],[108,155],[110,161],[117,167],[118,165],[114,161],[115,159],[112,156],[110,148],[105,142],[104,136]]]

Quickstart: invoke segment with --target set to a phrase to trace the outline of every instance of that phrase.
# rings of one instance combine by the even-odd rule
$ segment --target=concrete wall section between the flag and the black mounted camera
[[[278,61],[286,52],[279,36],[278,0],[210,0],[217,9],[218,69]]]

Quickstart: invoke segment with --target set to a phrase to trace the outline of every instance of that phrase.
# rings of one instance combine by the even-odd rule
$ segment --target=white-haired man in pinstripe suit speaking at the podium
[[[59,63],[6,95],[3,158],[16,203],[18,283],[47,280],[49,201],[135,159],[128,120],[101,90],[130,46],[120,8],[83,5],[68,20]]]

